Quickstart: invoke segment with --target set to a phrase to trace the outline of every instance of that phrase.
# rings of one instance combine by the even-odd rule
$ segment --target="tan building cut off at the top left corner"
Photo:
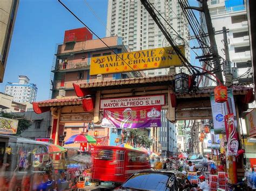
[[[0,83],[3,82],[19,0],[0,1]]]

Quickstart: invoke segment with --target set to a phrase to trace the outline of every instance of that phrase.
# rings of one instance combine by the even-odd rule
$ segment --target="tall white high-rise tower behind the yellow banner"
[[[151,0],[150,2],[166,19],[167,23],[183,38],[180,39],[176,32],[171,29],[171,26],[158,15],[176,43],[184,44],[184,40],[188,42],[188,24],[185,16],[183,16],[178,1]],[[163,33],[140,1],[109,0],[106,36],[114,35],[123,37],[124,45],[128,45],[131,51],[170,46]],[[186,47],[186,57],[190,58],[188,47]],[[169,69],[157,69],[145,71],[145,74],[146,76],[160,76],[168,72]],[[185,70],[183,72],[185,72]]]

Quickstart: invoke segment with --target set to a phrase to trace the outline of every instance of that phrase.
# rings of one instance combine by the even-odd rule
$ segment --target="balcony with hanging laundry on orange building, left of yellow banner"
[[[59,63],[56,67],[52,68],[52,72],[56,71],[63,71],[65,72],[66,70],[79,70],[79,69],[90,69],[90,64],[87,62],[80,62],[80,63]]]

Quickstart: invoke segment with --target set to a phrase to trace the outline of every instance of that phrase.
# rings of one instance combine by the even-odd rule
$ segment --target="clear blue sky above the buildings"
[[[99,37],[105,37],[105,26],[85,1],[106,24],[107,0],[62,0]],[[196,0],[190,2],[196,5]],[[63,42],[65,30],[80,27],[83,25],[57,0],[20,0],[0,91],[4,92],[8,81],[18,83],[18,76],[25,75],[38,87],[37,101],[49,99],[50,71],[56,44]]]

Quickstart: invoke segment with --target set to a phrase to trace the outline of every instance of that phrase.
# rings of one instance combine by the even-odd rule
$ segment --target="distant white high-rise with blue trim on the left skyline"
[[[37,86],[29,83],[28,77],[19,76],[19,83],[8,82],[4,93],[12,95],[14,97],[13,101],[17,103],[32,103],[36,101]]]

